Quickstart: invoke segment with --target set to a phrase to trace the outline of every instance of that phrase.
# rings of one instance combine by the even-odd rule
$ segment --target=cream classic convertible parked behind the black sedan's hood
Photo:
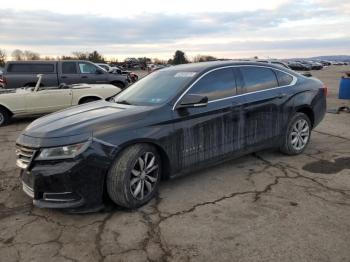
[[[42,75],[35,87],[0,90],[0,127],[12,117],[40,116],[67,107],[93,102],[118,94],[121,89],[110,84],[61,84],[41,87]]]

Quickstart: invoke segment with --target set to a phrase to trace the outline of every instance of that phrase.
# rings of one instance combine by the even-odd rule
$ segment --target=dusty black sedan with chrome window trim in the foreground
[[[302,153],[325,111],[325,86],[280,66],[179,65],[37,119],[17,139],[17,165],[38,207],[92,211],[108,197],[137,208],[162,178],[265,148]]]

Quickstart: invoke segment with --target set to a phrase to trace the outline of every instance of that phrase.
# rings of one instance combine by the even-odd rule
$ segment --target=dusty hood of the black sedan
[[[34,138],[77,136],[141,119],[152,107],[98,101],[71,107],[32,122],[23,135]],[[132,120],[131,120],[132,119]]]

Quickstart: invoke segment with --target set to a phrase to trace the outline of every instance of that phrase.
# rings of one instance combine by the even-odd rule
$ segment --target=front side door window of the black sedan
[[[191,88],[190,93],[207,96],[209,101],[235,95],[233,69],[219,69],[205,75]]]

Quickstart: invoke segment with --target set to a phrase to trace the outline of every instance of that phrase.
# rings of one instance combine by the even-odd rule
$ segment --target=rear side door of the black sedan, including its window
[[[245,147],[273,145],[281,134],[281,110],[285,101],[272,68],[239,67],[240,93],[244,96]]]

